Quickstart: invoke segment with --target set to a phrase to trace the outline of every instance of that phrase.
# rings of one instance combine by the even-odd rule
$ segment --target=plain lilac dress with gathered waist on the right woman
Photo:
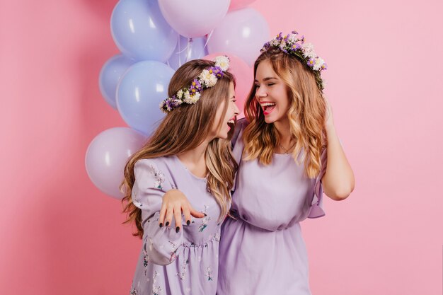
[[[240,163],[231,212],[222,226],[217,295],[309,295],[308,259],[299,222],[325,215],[321,178],[304,175],[292,155],[274,154],[272,163],[243,161],[242,134],[234,145]]]

